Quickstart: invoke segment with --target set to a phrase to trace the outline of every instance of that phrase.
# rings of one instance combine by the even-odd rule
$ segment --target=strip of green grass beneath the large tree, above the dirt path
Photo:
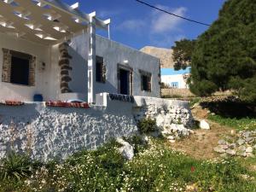
[[[255,130],[256,129],[256,118],[228,118],[220,115],[208,116],[208,119],[217,122],[220,125],[227,125],[235,128],[237,131],[241,130]]]

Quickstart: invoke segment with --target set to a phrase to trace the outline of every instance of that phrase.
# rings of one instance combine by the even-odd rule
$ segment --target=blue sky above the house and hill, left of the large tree
[[[63,0],[80,3],[85,13],[111,19],[111,38],[136,49],[144,46],[171,48],[181,38],[197,38],[207,30],[186,20],[166,15],[135,0]],[[143,0],[174,14],[212,24],[225,0]],[[98,32],[107,35],[107,32]]]

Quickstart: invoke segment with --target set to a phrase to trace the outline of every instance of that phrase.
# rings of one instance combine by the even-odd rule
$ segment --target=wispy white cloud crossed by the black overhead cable
[[[172,12],[175,15],[184,16],[187,9],[184,7],[180,7],[177,9],[170,9],[166,6],[157,5],[156,7],[160,9],[165,9],[166,11]],[[182,19],[168,15],[166,13],[155,10],[153,12],[152,20],[151,20],[151,29],[152,33],[166,33],[179,31],[178,26],[183,22]]]

